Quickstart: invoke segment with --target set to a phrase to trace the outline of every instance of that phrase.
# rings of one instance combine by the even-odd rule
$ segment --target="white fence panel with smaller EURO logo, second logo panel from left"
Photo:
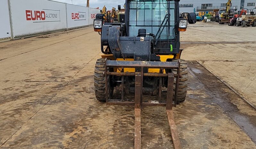
[[[67,4],[67,27],[82,27],[89,25],[88,7]]]

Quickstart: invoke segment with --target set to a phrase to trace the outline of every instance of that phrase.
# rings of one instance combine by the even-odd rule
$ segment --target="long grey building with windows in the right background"
[[[182,12],[214,12],[214,10],[225,9],[227,0],[181,0],[180,13]],[[232,0],[231,8],[239,11],[241,8],[255,8],[256,0]],[[236,12],[237,12],[236,11]]]

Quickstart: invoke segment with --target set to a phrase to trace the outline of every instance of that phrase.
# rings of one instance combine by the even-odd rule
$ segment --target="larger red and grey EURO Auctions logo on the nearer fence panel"
[[[33,23],[40,22],[60,22],[60,11],[42,9],[42,11],[26,10],[26,20]]]

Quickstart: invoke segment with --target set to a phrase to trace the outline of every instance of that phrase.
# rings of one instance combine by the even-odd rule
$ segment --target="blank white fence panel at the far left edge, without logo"
[[[11,38],[8,0],[0,0],[0,39]]]

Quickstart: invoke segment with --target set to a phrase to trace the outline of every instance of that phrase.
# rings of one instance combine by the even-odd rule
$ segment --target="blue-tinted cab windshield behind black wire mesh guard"
[[[175,5],[170,0],[130,0],[129,36],[137,36],[139,29],[146,29],[147,33],[160,36],[160,40],[175,39]]]

